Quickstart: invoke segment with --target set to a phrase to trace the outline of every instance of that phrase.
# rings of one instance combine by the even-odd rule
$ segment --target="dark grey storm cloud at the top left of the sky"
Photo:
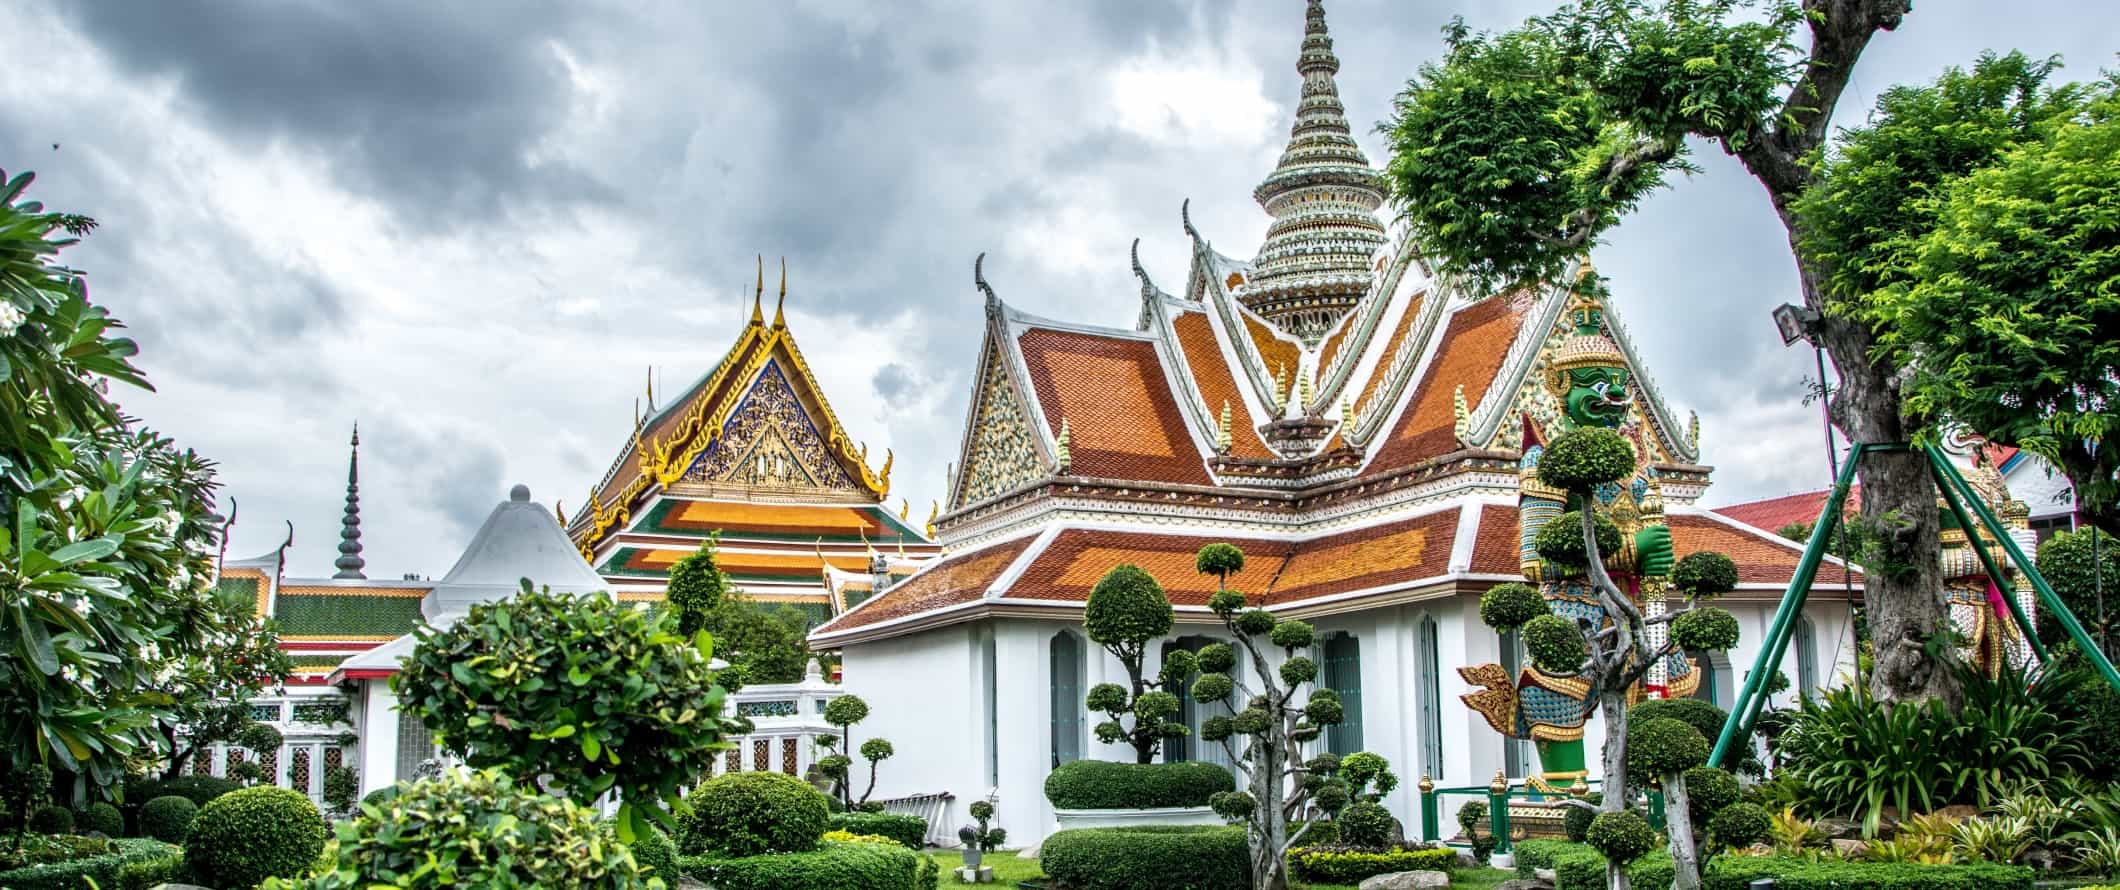
[[[157,0],[59,4],[114,61],[174,76],[180,93],[254,144],[293,140],[333,157],[352,191],[428,225],[496,199],[608,197],[532,144],[566,110],[547,38],[577,4],[390,0]]]

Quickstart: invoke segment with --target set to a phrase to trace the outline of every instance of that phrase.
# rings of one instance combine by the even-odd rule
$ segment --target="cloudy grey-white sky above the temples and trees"
[[[1370,125],[1463,15],[1545,2],[1331,0]],[[220,460],[231,555],[297,528],[329,572],[348,426],[369,576],[439,576],[507,485],[581,504],[649,369],[672,392],[787,256],[833,407],[897,449],[916,517],[956,458],[971,259],[1024,309],[1128,324],[1126,246],[1183,284],[1179,201],[1223,252],[1297,97],[1295,0],[329,2],[0,0],[0,167],[104,222],[68,261],[134,326],[127,411]],[[2095,76],[2120,4],[1921,0],[1842,104],[1982,49]],[[1702,417],[1711,502],[1823,483],[1796,275],[1760,189],[1709,150],[1596,254],[1649,371]],[[772,286],[772,284],[770,284]]]

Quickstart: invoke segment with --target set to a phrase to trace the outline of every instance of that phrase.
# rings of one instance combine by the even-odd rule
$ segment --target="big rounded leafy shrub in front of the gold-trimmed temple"
[[[515,598],[471,606],[445,629],[420,627],[390,687],[473,767],[543,776],[581,801],[617,790],[619,837],[630,839],[649,818],[670,824],[659,803],[676,803],[736,729],[708,670],[710,642],[664,621],[608,593],[555,595],[524,578]]]

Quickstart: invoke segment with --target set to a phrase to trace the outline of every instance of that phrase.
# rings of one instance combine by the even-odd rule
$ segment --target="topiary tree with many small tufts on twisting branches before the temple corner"
[[[1244,841],[1251,850],[1251,886],[1280,890],[1289,886],[1289,848],[1310,831],[1304,824],[1289,835],[1289,820],[1321,788],[1319,782],[1310,780],[1304,744],[1317,740],[1323,727],[1338,725],[1346,712],[1340,706],[1340,695],[1323,687],[1312,687],[1308,699],[1297,701],[1302,689],[1319,676],[1319,663],[1308,655],[1297,655],[1317,642],[1317,631],[1302,621],[1274,619],[1264,608],[1244,608],[1244,593],[1230,589],[1230,574],[1244,568],[1244,551],[1234,545],[1206,545],[1194,566],[1202,574],[1215,576],[1215,595],[1206,604],[1236,638],[1236,646],[1217,642],[1200,648],[1198,668],[1204,674],[1194,680],[1191,697],[1202,704],[1244,704],[1242,708],[1232,704],[1236,716],[1213,716],[1200,725],[1200,737],[1219,742],[1230,754],[1230,763],[1244,769],[1249,780],[1249,790],[1219,793],[1208,805],[1230,822],[1244,824]],[[1234,674],[1238,648],[1244,651],[1251,665],[1247,682],[1238,682]],[[1276,648],[1283,655],[1278,670],[1266,657]],[[1238,695],[1242,697],[1238,699]],[[1344,761],[1338,767],[1344,769]],[[1348,814],[1365,805],[1376,803],[1350,803],[1340,812],[1342,841],[1355,843],[1346,837],[1344,822]],[[1357,816],[1357,820],[1361,818]]]

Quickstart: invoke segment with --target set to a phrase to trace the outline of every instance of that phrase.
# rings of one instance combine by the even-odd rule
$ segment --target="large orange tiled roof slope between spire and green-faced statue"
[[[1456,449],[1456,388],[1465,388],[1465,405],[1480,407],[1501,360],[1516,341],[1524,314],[1507,299],[1495,297],[1456,309],[1442,335],[1435,358],[1429,360],[1412,405],[1399,415],[1370,473],[1386,473],[1425,458]],[[1503,394],[1507,396],[1507,394]]]

